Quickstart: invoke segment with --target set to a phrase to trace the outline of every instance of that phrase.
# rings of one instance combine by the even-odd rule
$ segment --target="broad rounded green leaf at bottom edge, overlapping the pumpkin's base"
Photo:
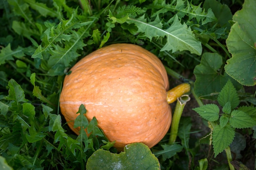
[[[133,143],[119,154],[99,149],[88,159],[87,170],[159,170],[160,164],[148,146]]]

